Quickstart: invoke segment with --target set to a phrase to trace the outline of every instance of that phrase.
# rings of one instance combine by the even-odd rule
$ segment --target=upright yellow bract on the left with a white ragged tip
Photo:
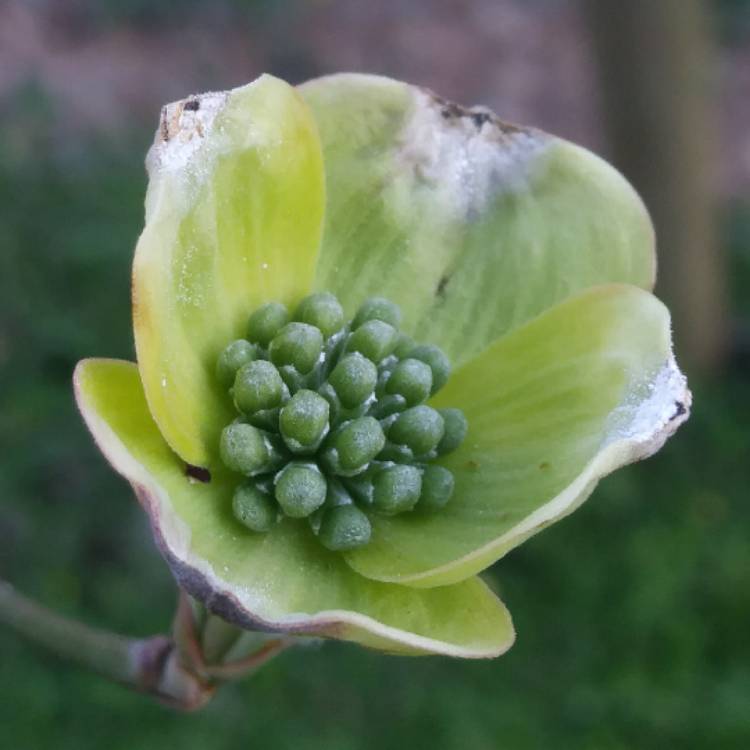
[[[268,300],[314,275],[324,208],[320,143],[297,92],[270,76],[162,112],[133,268],[138,363],[151,412],[186,461],[215,456],[230,400],[219,353]]]

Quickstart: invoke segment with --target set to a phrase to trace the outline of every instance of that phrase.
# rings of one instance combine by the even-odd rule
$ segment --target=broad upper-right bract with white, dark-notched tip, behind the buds
[[[328,186],[316,286],[398,302],[460,365],[587,287],[651,288],[651,223],[612,167],[559,138],[363,75],[300,88]]]

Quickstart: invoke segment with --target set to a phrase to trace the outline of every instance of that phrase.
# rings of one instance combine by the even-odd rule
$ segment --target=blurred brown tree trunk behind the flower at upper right
[[[615,164],[656,226],[657,294],[672,310],[678,355],[718,371],[728,344],[724,258],[716,231],[716,71],[701,0],[585,0]]]

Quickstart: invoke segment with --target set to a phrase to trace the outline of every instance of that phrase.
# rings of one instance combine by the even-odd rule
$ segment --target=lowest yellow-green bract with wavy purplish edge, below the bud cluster
[[[148,410],[134,364],[84,360],[81,412],[102,452],[134,487],[179,584],[238,625],[356,641],[397,653],[496,656],[514,633],[478,578],[419,591],[362,578],[304,521],[267,534],[232,517],[237,476],[189,479]]]

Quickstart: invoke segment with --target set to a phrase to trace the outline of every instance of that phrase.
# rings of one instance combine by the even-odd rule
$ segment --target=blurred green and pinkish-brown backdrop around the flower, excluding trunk
[[[297,82],[359,69],[616,157],[586,7],[0,2],[0,577],[92,624],[168,627],[169,574],[70,387],[82,357],[133,357],[129,265],[162,103],[262,70]],[[514,615],[509,654],[311,647],[185,716],[0,631],[0,746],[750,747],[750,3],[707,9],[716,245],[703,252],[718,259],[707,294],[723,312],[706,313],[708,349],[695,351],[689,315],[676,319],[694,415],[488,572]],[[662,279],[691,270],[664,250]]]

